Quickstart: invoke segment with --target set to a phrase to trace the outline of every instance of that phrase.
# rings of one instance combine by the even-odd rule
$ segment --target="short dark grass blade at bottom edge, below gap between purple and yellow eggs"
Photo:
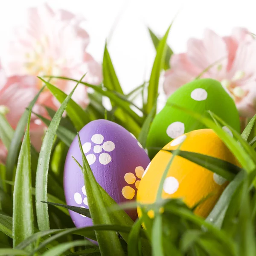
[[[141,219],[135,221],[131,232],[129,234],[128,240],[128,256],[140,256],[140,229],[141,229]]]

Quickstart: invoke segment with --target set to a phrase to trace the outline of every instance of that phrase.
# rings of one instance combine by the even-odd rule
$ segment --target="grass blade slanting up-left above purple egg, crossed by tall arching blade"
[[[81,80],[84,78],[84,76],[81,78]],[[58,89],[54,85],[48,83],[41,77],[39,77],[39,79],[41,79],[46,84],[47,88],[51,91],[52,95],[55,96],[55,98],[60,103],[64,102],[64,100],[67,98],[66,93],[64,93],[62,90]],[[70,120],[73,122],[73,125],[76,127],[77,131],[80,131],[81,128],[84,127],[84,125],[91,121],[87,113],[76,102],[74,102],[73,99],[70,99],[66,111],[68,116],[70,117]]]

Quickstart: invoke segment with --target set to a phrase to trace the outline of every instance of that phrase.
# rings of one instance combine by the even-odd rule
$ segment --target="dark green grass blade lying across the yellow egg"
[[[164,151],[174,152],[174,150]],[[207,168],[208,170],[215,172],[218,175],[221,175],[229,181],[233,180],[234,177],[242,170],[239,166],[236,166],[232,163],[200,153],[180,150],[178,155],[204,168]]]

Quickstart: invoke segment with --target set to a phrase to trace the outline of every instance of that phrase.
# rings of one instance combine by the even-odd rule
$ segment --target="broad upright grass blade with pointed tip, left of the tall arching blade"
[[[34,233],[34,214],[31,192],[31,154],[29,111],[27,128],[20,148],[13,192],[13,246],[22,242]],[[32,247],[28,248],[29,250]]]

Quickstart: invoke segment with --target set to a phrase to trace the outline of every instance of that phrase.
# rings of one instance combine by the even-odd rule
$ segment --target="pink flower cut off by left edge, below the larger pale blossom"
[[[16,128],[21,115],[29,103],[38,93],[36,77],[34,76],[12,76],[6,78],[0,67],[0,112],[5,113],[6,119]],[[33,111],[46,115],[46,111],[40,105],[35,105]],[[35,115],[31,117],[30,137],[32,144],[39,151],[44,136],[44,125]],[[0,163],[5,163],[7,149],[0,140]]]

